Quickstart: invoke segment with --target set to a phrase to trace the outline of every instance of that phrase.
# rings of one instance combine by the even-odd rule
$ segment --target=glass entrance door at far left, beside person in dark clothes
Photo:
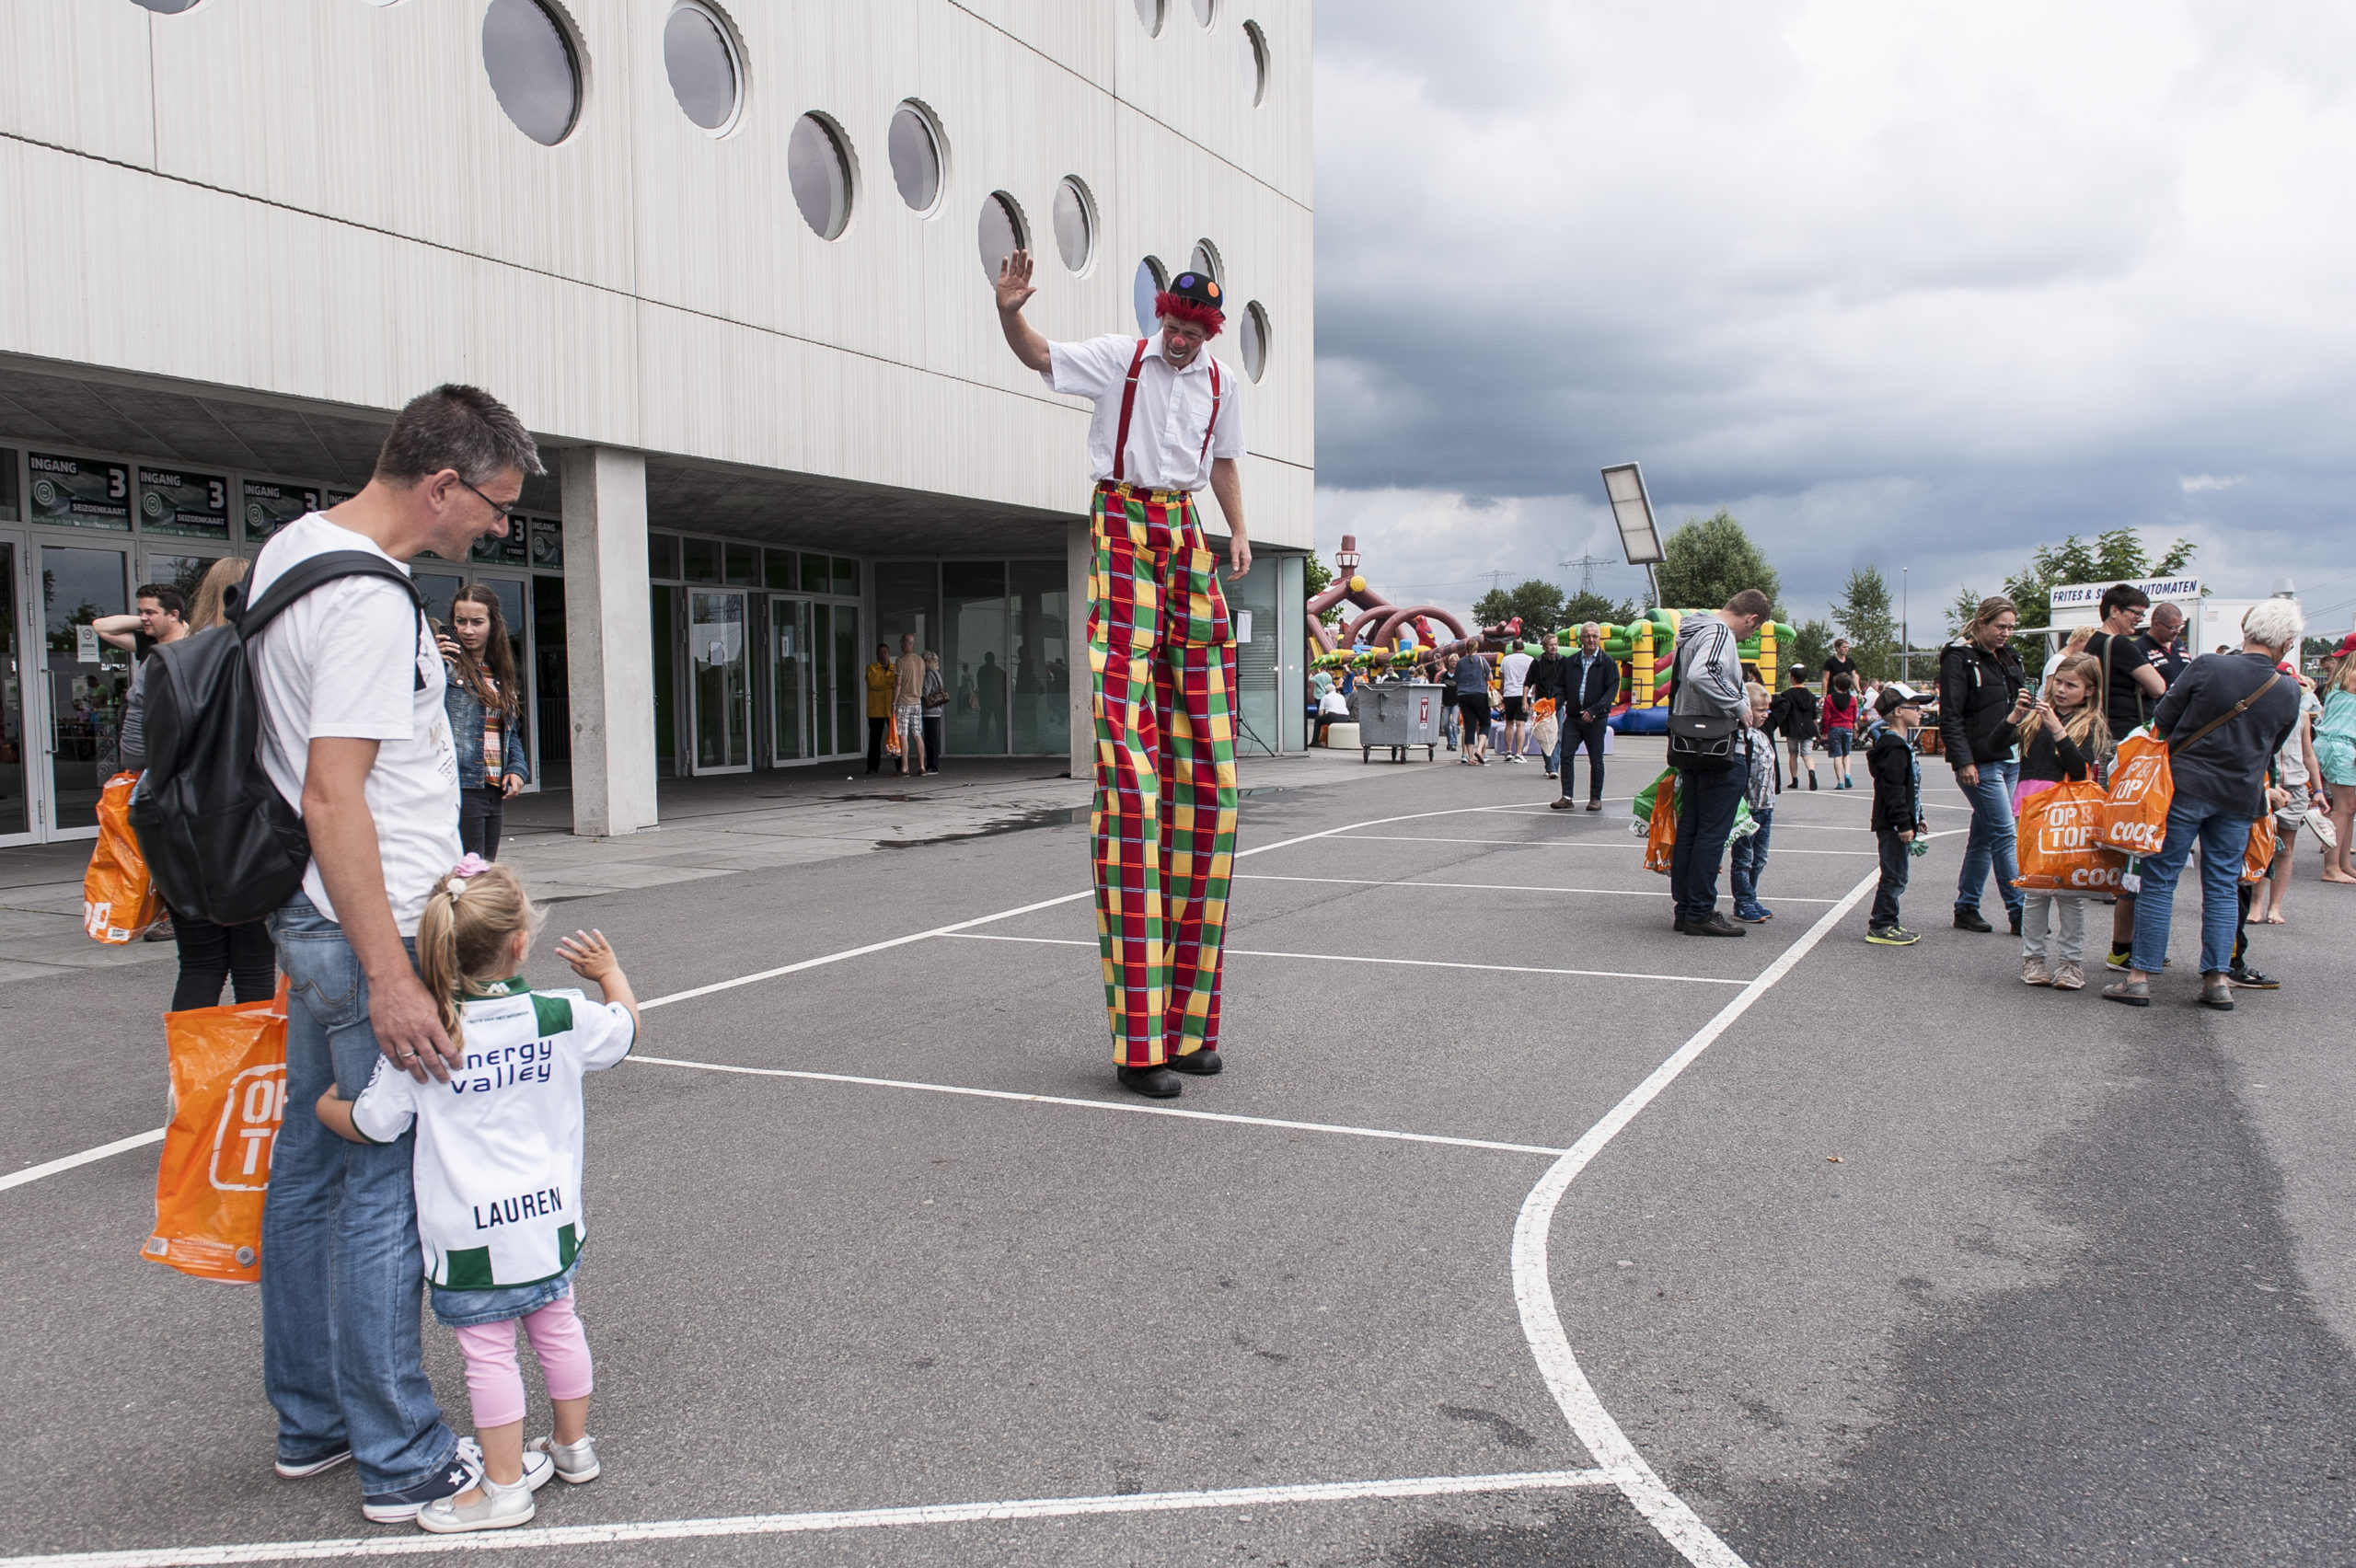
[[[99,789],[123,765],[115,744],[132,657],[101,643],[92,622],[130,610],[130,551],[64,544],[38,549],[47,643],[40,720],[49,756],[49,838],[94,838]]]

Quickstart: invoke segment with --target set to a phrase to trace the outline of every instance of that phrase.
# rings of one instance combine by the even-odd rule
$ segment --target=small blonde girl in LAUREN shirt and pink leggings
[[[638,1038],[638,1001],[598,932],[573,932],[556,954],[605,1003],[580,991],[532,991],[523,961],[540,911],[507,866],[474,855],[436,883],[417,925],[417,972],[464,1055],[448,1083],[377,1062],[356,1102],[335,1085],[318,1118],[353,1142],[389,1144],[415,1123],[417,1234],[434,1316],[457,1330],[466,1396],[483,1448],[478,1486],[429,1502],[436,1535],[530,1523],[551,1474],[596,1481],[589,1436],[589,1340],[573,1316],[582,1215],[582,1071],[613,1067]],[[523,1446],[516,1318],[549,1380],[556,1434]]]

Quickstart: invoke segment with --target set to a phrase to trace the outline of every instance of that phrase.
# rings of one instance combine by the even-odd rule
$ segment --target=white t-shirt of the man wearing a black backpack
[[[337,527],[323,513],[306,513],[262,546],[247,603],[262,598],[287,567],[327,551],[384,556],[375,539]],[[377,765],[368,770],[368,815],[377,822],[377,857],[393,921],[403,937],[415,937],[426,895],[462,852],[457,753],[450,749],[443,662],[431,629],[398,586],[346,577],[287,605],[262,631],[252,659],[262,697],[262,765],[297,810],[313,739],[382,742]],[[304,871],[302,890],[323,916],[337,918],[316,859]]]

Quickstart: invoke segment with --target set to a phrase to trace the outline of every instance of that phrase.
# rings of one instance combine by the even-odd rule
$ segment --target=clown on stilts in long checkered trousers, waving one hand
[[[1230,582],[1244,534],[1242,377],[1206,348],[1223,294],[1178,273],[1150,337],[1051,344],[1023,320],[1032,259],[999,264],[999,325],[1051,391],[1088,398],[1093,560],[1088,676],[1096,718],[1096,939],[1124,1088],[1152,1099],[1178,1074],[1220,1069],[1218,982],[1235,864],[1235,633],[1220,558],[1194,516],[1204,485],[1227,518]]]

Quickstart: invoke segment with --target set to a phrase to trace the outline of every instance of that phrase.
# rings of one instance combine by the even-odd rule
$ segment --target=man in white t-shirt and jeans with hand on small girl
[[[401,579],[419,551],[466,560],[476,539],[502,537],[523,478],[542,471],[514,412],[438,386],[401,410],[360,494],[262,546],[245,598],[259,610],[323,556],[372,572],[285,605],[247,659],[262,765],[311,841],[302,888],[271,916],[290,1111],[262,1215],[264,1382],[278,1474],[356,1460],[377,1523],[474,1486],[481,1457],[441,1420],[419,1349],[415,1135],[346,1144],[306,1109],[330,1083],[358,1097],[379,1052],[419,1081],[459,1062],[412,968],[426,895],[459,857],[459,789],[441,652]]]

